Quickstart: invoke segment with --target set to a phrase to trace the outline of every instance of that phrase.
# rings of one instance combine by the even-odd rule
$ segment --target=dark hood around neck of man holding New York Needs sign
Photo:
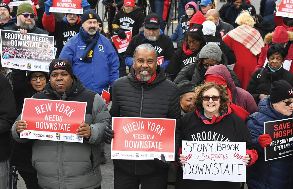
[[[73,75],[72,87],[67,92],[64,92],[62,95],[58,94],[56,91],[52,89],[51,83],[48,82],[44,88],[43,93],[52,96],[53,98],[60,98],[60,100],[65,100],[67,98],[71,98],[79,94],[81,91],[85,90],[84,84],[82,84],[81,80],[77,75]]]

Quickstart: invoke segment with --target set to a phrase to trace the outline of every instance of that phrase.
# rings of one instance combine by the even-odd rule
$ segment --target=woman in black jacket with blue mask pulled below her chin
[[[246,89],[253,96],[256,104],[270,94],[274,81],[285,80],[293,85],[293,73],[283,67],[286,57],[285,48],[281,44],[273,44],[268,49],[267,57],[268,62],[265,67],[257,69],[251,75]]]

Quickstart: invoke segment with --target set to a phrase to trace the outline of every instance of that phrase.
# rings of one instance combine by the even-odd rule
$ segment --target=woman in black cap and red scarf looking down
[[[202,25],[193,24],[193,27],[188,30],[183,40],[185,40],[185,43],[182,48],[176,50],[166,67],[166,77],[171,81],[174,81],[183,67],[195,63],[197,54],[205,46],[206,41],[202,33]]]

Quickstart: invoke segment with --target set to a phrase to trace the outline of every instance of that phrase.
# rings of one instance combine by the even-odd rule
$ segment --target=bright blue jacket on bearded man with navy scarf
[[[88,37],[85,31],[82,32]],[[112,87],[113,82],[119,78],[118,55],[110,41],[100,35],[93,50],[93,60],[91,63],[86,63],[80,60],[86,45],[77,33],[64,45],[59,58],[69,58],[73,73],[80,78],[84,86],[101,94],[103,89],[108,90],[108,87]]]

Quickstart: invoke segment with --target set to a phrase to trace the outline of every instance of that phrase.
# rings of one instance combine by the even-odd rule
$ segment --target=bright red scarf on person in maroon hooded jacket
[[[227,85],[226,80],[222,76],[219,76],[219,75],[206,75],[205,82],[215,82],[217,84]],[[228,87],[227,87],[227,92],[231,100],[231,104],[229,106],[232,109],[232,112],[238,115],[239,117],[241,117],[243,121],[245,121],[246,117],[249,116],[249,113],[242,107],[232,103],[232,93]]]

